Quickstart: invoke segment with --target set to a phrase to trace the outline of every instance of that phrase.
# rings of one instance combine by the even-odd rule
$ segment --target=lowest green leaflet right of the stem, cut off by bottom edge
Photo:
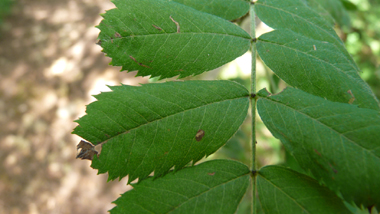
[[[257,189],[264,213],[350,213],[331,190],[285,167],[261,168],[257,175]]]

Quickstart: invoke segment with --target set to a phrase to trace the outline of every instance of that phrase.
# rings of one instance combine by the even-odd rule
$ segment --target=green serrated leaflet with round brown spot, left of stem
[[[92,167],[129,181],[184,167],[224,145],[244,121],[249,92],[231,81],[110,87],[96,95],[74,134],[102,143]]]

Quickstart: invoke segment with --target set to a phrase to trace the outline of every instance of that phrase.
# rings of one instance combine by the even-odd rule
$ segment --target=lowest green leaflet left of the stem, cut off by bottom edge
[[[213,160],[133,184],[114,203],[116,213],[234,213],[250,180],[247,166]]]

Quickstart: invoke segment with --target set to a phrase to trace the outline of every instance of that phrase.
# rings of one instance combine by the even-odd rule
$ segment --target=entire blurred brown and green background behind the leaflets
[[[336,19],[335,29],[380,97],[380,2],[341,0],[345,9],[320,1]],[[137,85],[157,79],[119,72],[95,45],[106,0],[0,0],[0,213],[105,213],[130,189],[107,181],[89,161],[76,160],[73,122],[91,95],[106,85]],[[239,24],[249,32],[248,18]],[[257,20],[257,33],[270,31]],[[229,79],[249,88],[250,53],[192,79]],[[189,78],[187,78],[189,79]],[[167,80],[164,80],[167,81]],[[280,92],[286,84],[257,59],[257,89]],[[257,164],[297,164],[256,116]],[[250,118],[217,153],[250,165]],[[300,169],[299,169],[300,170]],[[300,170],[302,171],[302,170]],[[248,213],[248,193],[238,213]]]

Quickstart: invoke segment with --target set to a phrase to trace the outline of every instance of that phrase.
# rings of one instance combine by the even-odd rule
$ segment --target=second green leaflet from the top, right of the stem
[[[289,30],[260,36],[260,57],[285,82],[331,101],[379,110],[371,89],[354,64],[333,44],[310,39]]]

